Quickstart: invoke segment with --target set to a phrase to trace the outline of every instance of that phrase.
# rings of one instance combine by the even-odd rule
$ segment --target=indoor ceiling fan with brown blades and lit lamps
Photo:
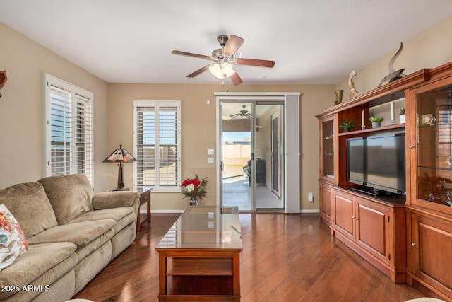
[[[231,63],[237,65],[260,66],[268,68],[273,68],[273,66],[275,66],[275,61],[234,57],[235,52],[237,52],[239,47],[242,46],[242,44],[244,43],[244,39],[242,37],[238,37],[237,35],[231,35],[228,38],[227,35],[219,35],[217,37],[217,40],[220,43],[221,48],[219,48],[218,50],[213,50],[212,56],[206,56],[203,54],[193,54],[191,52],[182,52],[180,50],[173,50],[171,52],[172,54],[179,54],[187,57],[197,57],[200,59],[207,59],[209,61],[213,61],[213,63],[210,63],[192,72],[187,76],[187,78],[193,78],[194,76],[197,76],[198,74],[201,74],[204,71],[209,70],[210,73],[216,78],[231,79],[234,85],[239,85],[243,81],[240,78],[239,74],[237,74],[237,71],[235,71]]]

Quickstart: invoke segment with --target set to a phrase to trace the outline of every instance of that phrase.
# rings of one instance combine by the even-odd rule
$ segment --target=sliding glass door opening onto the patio
[[[283,102],[222,102],[220,115],[220,204],[283,209]]]

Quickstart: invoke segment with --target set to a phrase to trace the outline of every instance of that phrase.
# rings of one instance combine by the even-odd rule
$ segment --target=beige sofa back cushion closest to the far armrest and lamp
[[[42,183],[54,209],[58,224],[65,224],[77,216],[93,210],[93,187],[83,174],[50,176]]]

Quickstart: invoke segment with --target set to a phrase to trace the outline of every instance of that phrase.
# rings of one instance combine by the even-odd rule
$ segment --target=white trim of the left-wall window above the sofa
[[[52,176],[52,153],[51,153],[51,125],[50,125],[50,117],[51,117],[51,87],[55,86],[58,88],[62,88],[65,91],[70,91],[71,95],[73,95],[73,99],[75,100],[75,95],[79,95],[82,98],[86,98],[91,101],[91,129],[87,129],[89,134],[89,144],[90,144],[90,151],[88,151],[88,157],[86,158],[86,165],[89,165],[90,171],[86,174],[88,177],[88,180],[90,180],[91,185],[94,187],[94,94],[90,91],[86,91],[83,88],[80,88],[78,86],[75,86],[71,83],[68,83],[66,81],[63,81],[61,79],[58,79],[54,76],[51,76],[49,74],[43,75],[43,81],[44,81],[44,101],[42,102],[44,104],[44,176]],[[73,108],[76,107],[76,103],[72,101]],[[73,116],[73,119],[76,119],[76,115]],[[73,138],[76,138],[75,132],[76,127],[73,127]],[[75,144],[73,144],[73,149],[75,149]],[[74,153],[75,154],[75,153]],[[73,158],[73,161],[76,161],[76,158]],[[88,163],[90,161],[90,163]],[[76,173],[76,171],[71,170],[69,173]]]

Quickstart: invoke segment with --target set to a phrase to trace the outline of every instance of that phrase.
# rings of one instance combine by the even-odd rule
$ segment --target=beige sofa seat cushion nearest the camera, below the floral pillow
[[[77,264],[76,248],[76,245],[67,242],[30,245],[28,252],[1,271],[0,286],[23,286],[32,284],[38,278],[43,286],[52,284]],[[0,291],[0,300],[13,294],[14,291]]]

